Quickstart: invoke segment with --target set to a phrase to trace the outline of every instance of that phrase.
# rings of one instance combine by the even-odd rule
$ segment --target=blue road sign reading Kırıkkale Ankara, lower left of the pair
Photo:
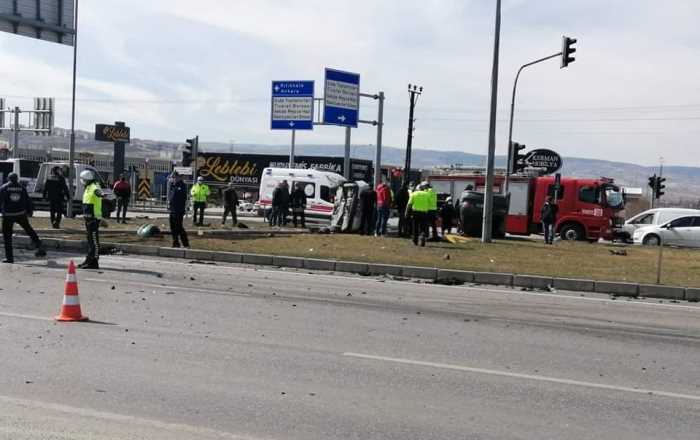
[[[313,81],[272,81],[271,129],[313,130],[313,120]]]

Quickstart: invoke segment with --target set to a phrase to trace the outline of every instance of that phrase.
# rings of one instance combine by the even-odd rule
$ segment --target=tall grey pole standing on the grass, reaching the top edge
[[[490,243],[493,229],[493,167],[496,156],[496,106],[498,104],[498,53],[501,40],[501,0],[496,1],[496,26],[491,70],[491,115],[489,118],[489,148],[486,158],[486,188],[484,188],[484,218],[481,242]]]

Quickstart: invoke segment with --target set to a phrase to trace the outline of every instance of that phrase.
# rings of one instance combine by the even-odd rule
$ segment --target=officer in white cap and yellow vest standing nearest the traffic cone
[[[78,267],[80,269],[99,269],[102,187],[100,187],[97,176],[92,170],[83,170],[80,173],[80,181],[85,187],[83,191],[83,218],[85,219],[88,253],[85,256],[85,261],[80,263]]]

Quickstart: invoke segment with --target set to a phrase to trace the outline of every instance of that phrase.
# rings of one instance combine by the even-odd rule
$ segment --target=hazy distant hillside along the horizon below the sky
[[[0,139],[8,140],[10,132],[0,134]],[[55,129],[52,136],[34,136],[23,134],[20,139],[23,147],[35,148],[68,148],[69,131],[61,128]],[[183,143],[167,142],[159,140],[132,139],[127,147],[127,154],[133,156],[159,157],[164,159],[179,159]],[[79,151],[92,151],[95,153],[111,153],[112,145],[94,140],[94,133],[78,131],[76,134],[76,146]],[[202,142],[201,148],[205,151],[221,151],[236,153],[269,153],[287,154],[289,147],[286,145],[262,145],[239,144],[233,148],[228,143]],[[342,145],[298,145],[297,154],[314,156],[342,156]],[[369,145],[353,145],[352,156],[360,159],[374,160],[375,150]],[[404,163],[404,148],[387,147],[382,150],[382,163],[401,166]],[[581,159],[565,157],[562,174],[579,177],[612,177],[616,182],[633,187],[646,188],[647,178],[658,170],[641,165],[611,162],[596,159]],[[413,153],[413,167],[432,168],[435,166],[484,166],[485,157],[480,154],[465,153],[462,151],[444,151],[415,149]],[[496,158],[496,166],[505,166],[505,157]],[[666,182],[666,201],[684,200],[687,203],[700,201],[700,168],[669,166],[664,168]]]

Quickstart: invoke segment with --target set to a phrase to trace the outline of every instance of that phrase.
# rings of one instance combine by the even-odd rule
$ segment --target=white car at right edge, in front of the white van
[[[635,244],[700,247],[700,215],[673,219],[662,225],[651,225],[634,231]]]

